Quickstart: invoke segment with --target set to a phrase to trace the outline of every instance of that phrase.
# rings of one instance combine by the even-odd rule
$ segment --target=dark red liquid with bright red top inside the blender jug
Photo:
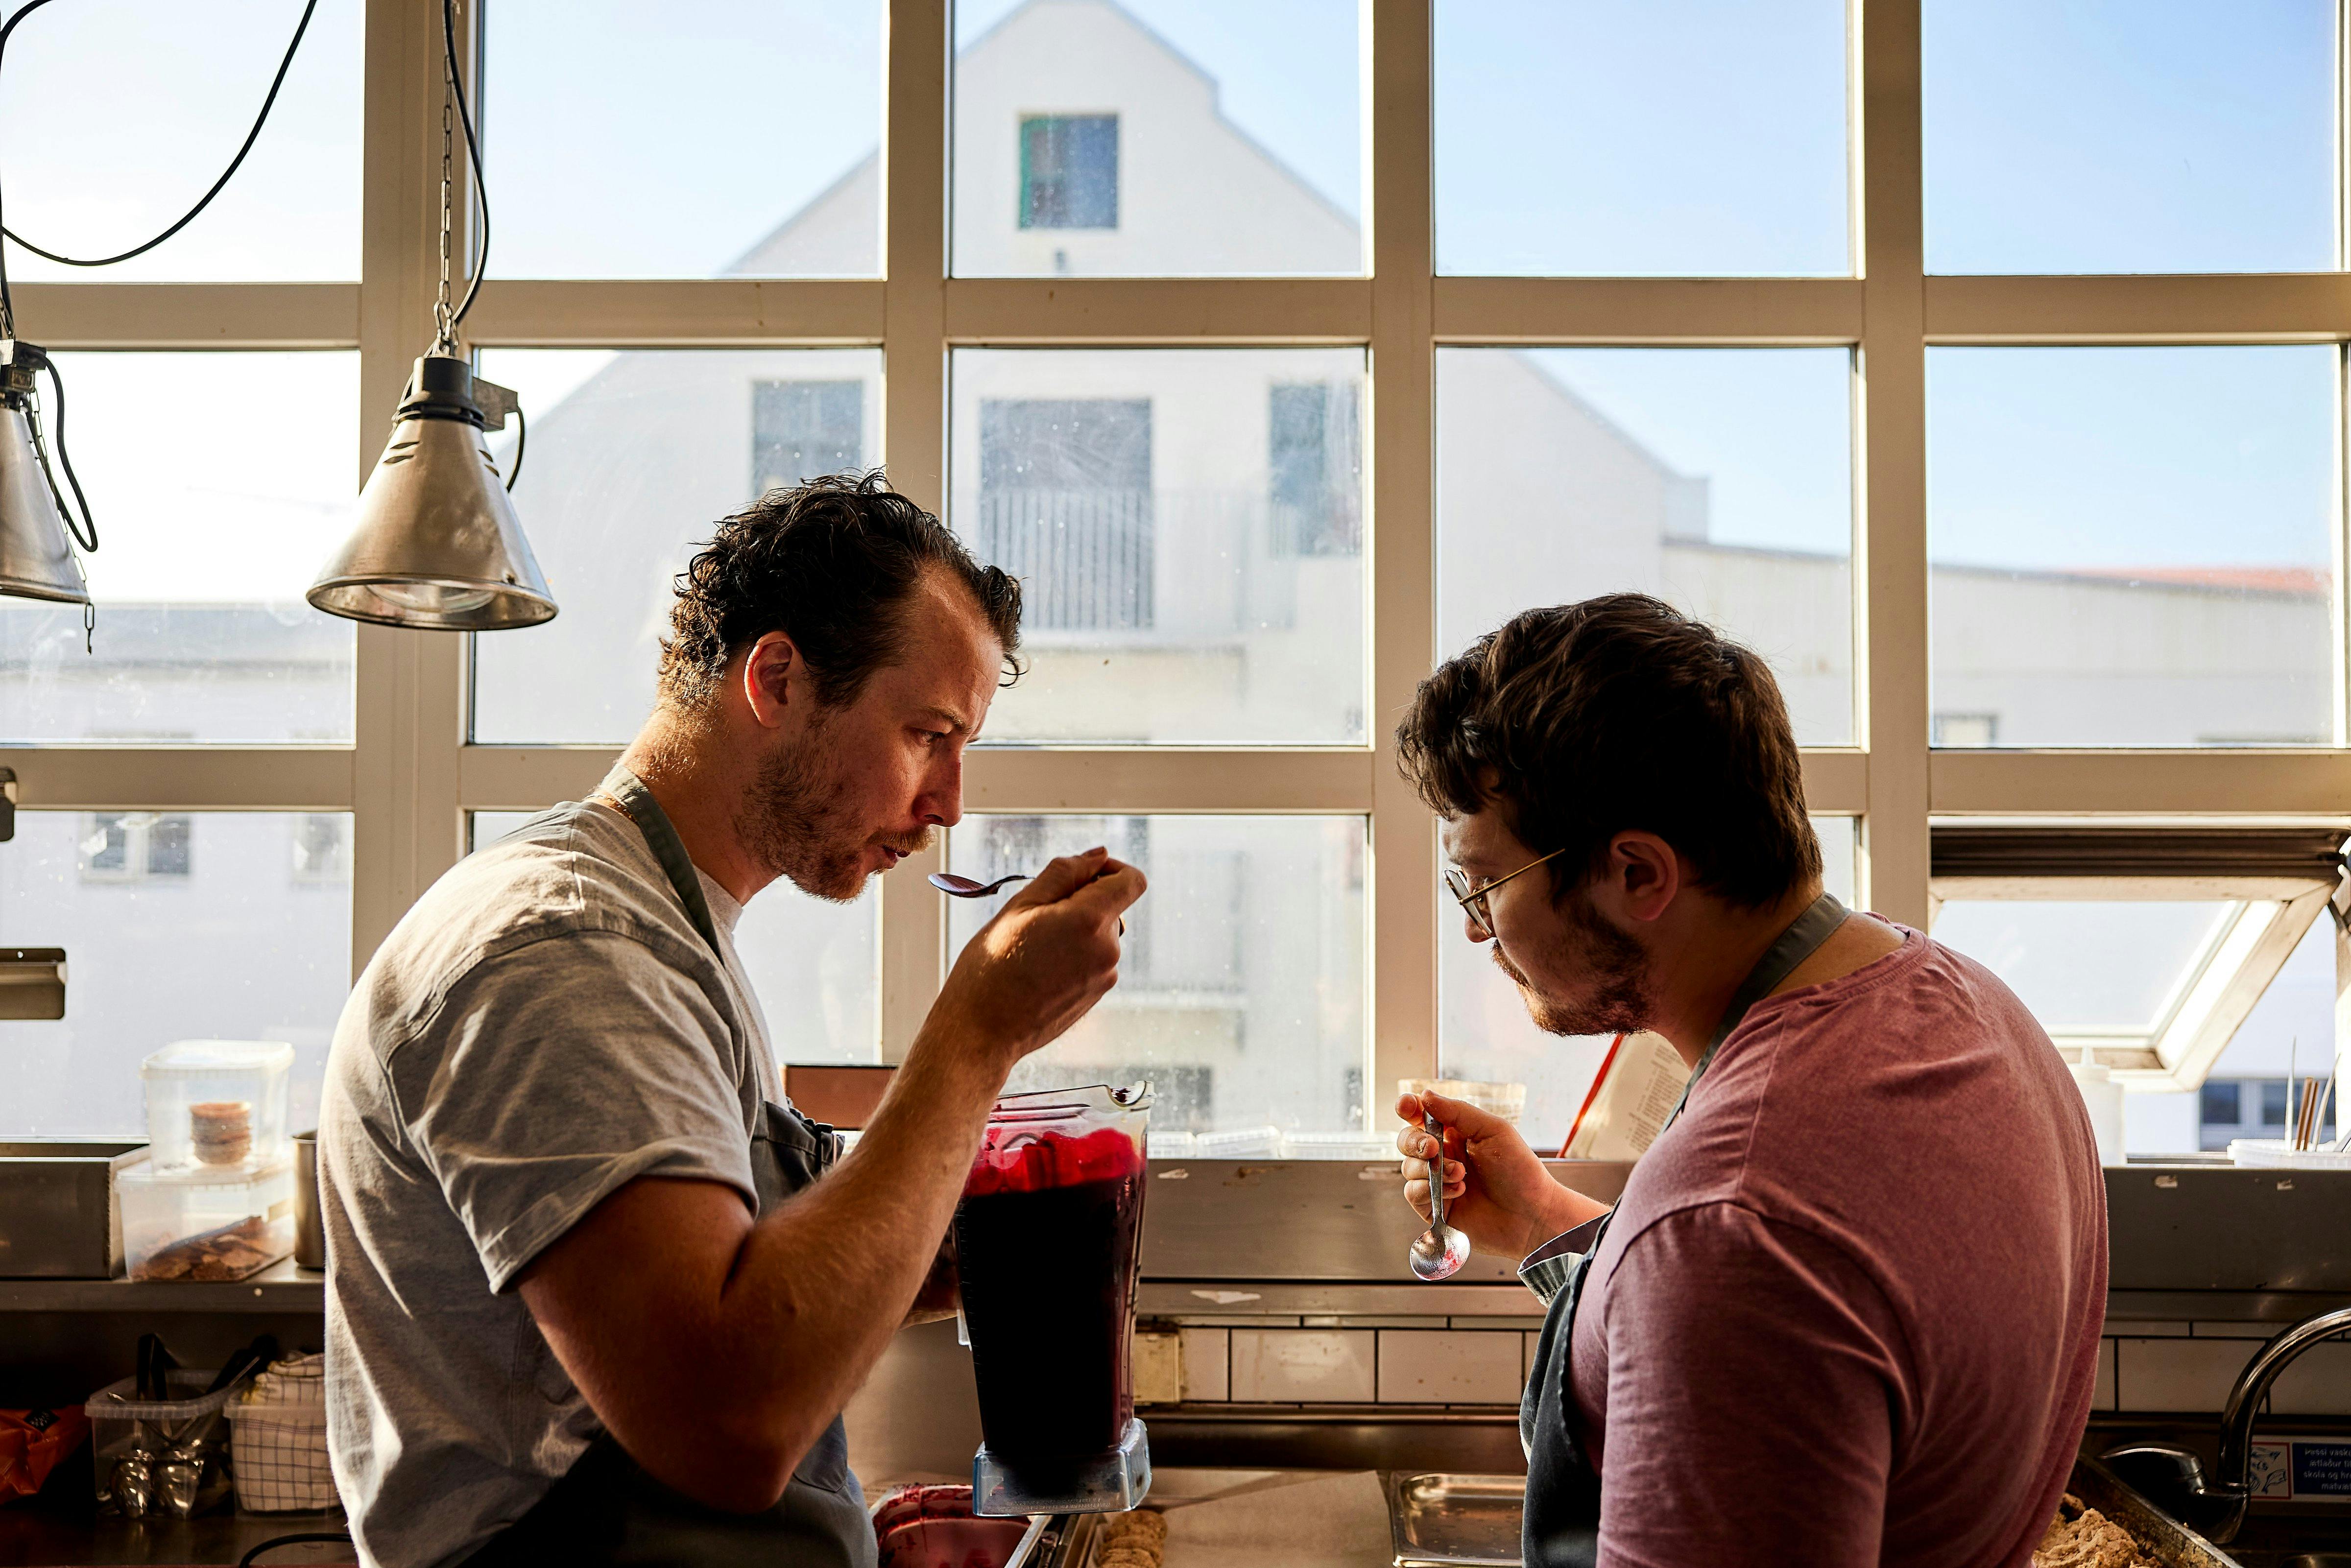
[[[1128,1133],[987,1128],[955,1255],[980,1432],[999,1462],[1051,1472],[1119,1446],[1136,1413],[1140,1227],[1143,1152]]]

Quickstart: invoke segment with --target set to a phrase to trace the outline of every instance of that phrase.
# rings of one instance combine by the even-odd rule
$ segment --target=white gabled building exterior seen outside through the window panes
[[[1225,120],[1215,82],[1114,0],[1030,0],[971,42],[955,136],[964,275],[1364,266],[1357,223]],[[736,270],[853,270],[877,197],[868,158]],[[484,374],[498,367],[487,355]],[[882,374],[879,353],[860,348],[625,350],[531,409],[517,503],[564,614],[477,639],[477,738],[625,738],[651,701],[670,574],[691,541],[766,484],[884,461]],[[983,555],[1013,557],[1037,611],[1032,672],[999,701],[990,738],[1347,745],[1392,722],[1366,712],[1366,409],[1359,348],[964,350],[950,376],[950,522]],[[1853,738],[1846,555],[1716,543],[1707,475],[1672,470],[1514,350],[1451,355],[1436,421],[1441,625],[1474,632],[1533,604],[1657,592],[1770,656],[1801,738]],[[1930,604],[1944,743],[2332,738],[2335,611],[2316,574],[1937,567]],[[275,654],[223,675],[141,642],[139,628],[172,616],[287,630],[270,632]],[[94,738],[195,736],[205,724],[190,715],[212,703],[282,705],[296,729],[331,733],[350,701],[348,635],[270,609],[115,607],[94,661],[78,646],[59,658],[54,625],[42,637],[21,618],[5,625],[0,717],[42,736],[68,715]],[[28,832],[56,839],[38,863],[31,844],[0,851],[7,940],[71,938],[94,954],[75,957],[68,1023],[0,1025],[54,1074],[66,1110],[45,1131],[134,1121],[132,1070],[169,1039],[324,1037],[348,910],[339,924],[320,907],[334,872],[301,870],[306,830],[275,820],[263,844],[256,820],[197,818],[190,870],[165,889],[183,889],[193,912],[226,910],[216,940],[132,919],[125,889],[153,900],[155,879],[73,870],[92,823]],[[1361,823],[1002,820],[969,825],[952,853],[1027,867],[1072,832],[1143,856],[1154,891],[1126,985],[1044,1070],[1161,1074],[1176,1126],[1340,1128],[1366,1112],[1378,1124],[1385,1093],[1364,1084]],[[785,1058],[870,1058],[872,905],[769,893],[752,919]],[[1444,922],[1444,940],[1453,931]],[[1476,959],[1448,950],[1446,1060],[1493,1070],[1481,1063],[1549,1053],[1556,1077],[1540,1093],[1573,1093],[1592,1053],[1535,1039],[1514,997],[1462,969]],[[2288,1023],[2327,1027],[2323,1009]]]

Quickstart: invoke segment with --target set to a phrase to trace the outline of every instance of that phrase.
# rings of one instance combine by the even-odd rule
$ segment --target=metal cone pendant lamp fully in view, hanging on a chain
[[[454,110],[454,115],[451,115]],[[465,155],[482,209],[482,242],[465,299],[449,303],[449,237],[456,155],[451,118],[465,127]],[[430,632],[496,632],[555,618],[555,595],[522,536],[513,475],[501,480],[484,430],[503,430],[515,395],[473,374],[456,329],[482,289],[489,256],[489,197],[482,150],[456,75],[456,2],[442,0],[442,219],[440,296],[433,348],[416,360],[400,395],[393,440],[360,491],[360,517],[306,595],[329,616]],[[515,458],[520,465],[522,447]]]

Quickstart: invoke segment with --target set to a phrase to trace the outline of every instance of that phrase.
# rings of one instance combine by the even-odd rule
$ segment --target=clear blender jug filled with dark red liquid
[[[1150,1086],[997,1100],[955,1211],[980,1392],[973,1509],[1089,1514],[1150,1490],[1131,1342]]]

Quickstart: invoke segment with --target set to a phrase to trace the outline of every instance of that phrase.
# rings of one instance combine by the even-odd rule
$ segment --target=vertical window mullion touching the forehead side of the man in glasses
[[[1436,1074],[1436,825],[1394,726],[1436,656],[1432,7],[1371,0],[1371,1126]]]

